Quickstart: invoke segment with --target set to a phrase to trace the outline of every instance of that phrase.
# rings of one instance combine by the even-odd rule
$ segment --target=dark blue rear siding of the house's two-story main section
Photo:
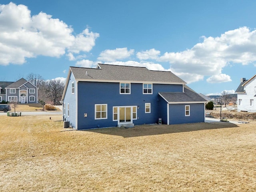
[[[131,94],[120,94],[119,83],[78,82],[78,129],[117,126],[113,121],[113,106],[139,106],[135,125],[157,123],[158,92],[182,92],[182,85],[153,84],[153,94],[143,94],[142,83],[131,83]],[[145,103],[151,104],[151,112],[145,113]],[[108,118],[95,120],[95,104],[108,105]],[[84,113],[87,117],[84,117]]]

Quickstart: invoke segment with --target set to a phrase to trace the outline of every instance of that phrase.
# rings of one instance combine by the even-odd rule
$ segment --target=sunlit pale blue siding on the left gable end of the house
[[[76,81],[75,81],[72,73],[70,74],[70,76],[68,78],[69,78],[68,86],[67,86],[67,89],[65,92],[65,97],[63,100],[63,103],[65,103],[66,114],[65,115],[63,114],[63,117],[64,117],[64,119],[66,119],[66,121],[70,122],[70,125],[73,128],[77,128],[77,125],[76,125],[76,94],[77,94]],[[72,94],[72,82],[74,82],[74,85],[75,85],[74,94]],[[69,104],[69,116],[68,116],[68,104]]]

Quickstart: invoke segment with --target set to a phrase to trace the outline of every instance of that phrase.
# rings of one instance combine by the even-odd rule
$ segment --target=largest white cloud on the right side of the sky
[[[203,42],[182,52],[166,52],[158,62],[170,62],[177,73],[199,76],[222,76],[222,82],[231,81],[222,69],[229,63],[249,64],[256,61],[256,30],[241,27],[221,34],[220,37],[202,37]]]

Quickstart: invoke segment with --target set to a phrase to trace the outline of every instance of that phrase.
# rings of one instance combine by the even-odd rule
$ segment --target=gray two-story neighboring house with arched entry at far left
[[[0,102],[17,101],[19,103],[37,103],[38,88],[21,78],[16,82],[0,82]]]

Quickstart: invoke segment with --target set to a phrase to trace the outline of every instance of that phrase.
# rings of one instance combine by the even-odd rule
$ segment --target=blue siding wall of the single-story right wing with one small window
[[[185,116],[185,105],[190,105],[190,116]],[[170,124],[204,122],[204,104],[169,104]]]

